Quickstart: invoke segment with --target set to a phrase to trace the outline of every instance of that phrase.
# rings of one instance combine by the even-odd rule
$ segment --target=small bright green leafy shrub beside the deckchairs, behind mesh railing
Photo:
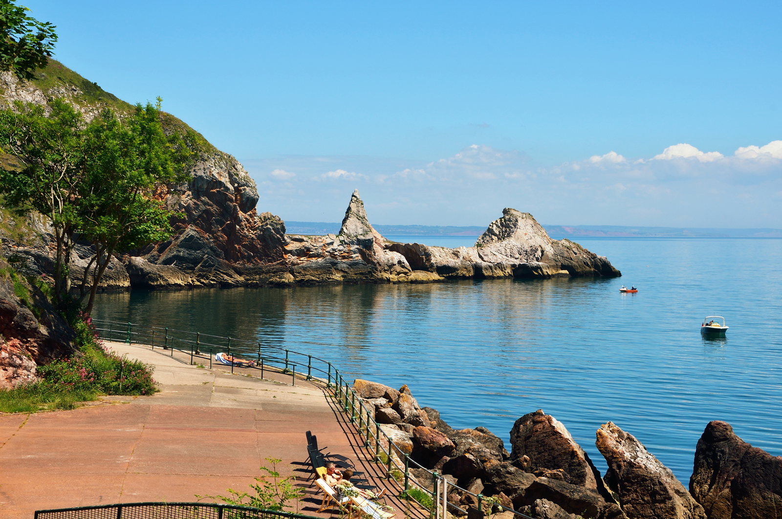
[[[265,470],[267,475],[260,478],[255,478],[257,483],[255,485],[249,485],[255,491],[254,495],[249,492],[239,492],[228,488],[230,496],[199,496],[195,495],[199,499],[220,499],[223,503],[230,505],[240,506],[254,506],[262,510],[277,510],[285,511],[285,508],[291,508],[288,502],[291,499],[301,499],[304,493],[298,488],[294,488],[291,481],[294,481],[292,477],[281,478],[280,473],[277,471],[277,463],[282,460],[276,458],[267,458],[267,461],[271,463],[271,469],[268,467],[260,467],[260,470]],[[269,481],[268,478],[271,478]]]

